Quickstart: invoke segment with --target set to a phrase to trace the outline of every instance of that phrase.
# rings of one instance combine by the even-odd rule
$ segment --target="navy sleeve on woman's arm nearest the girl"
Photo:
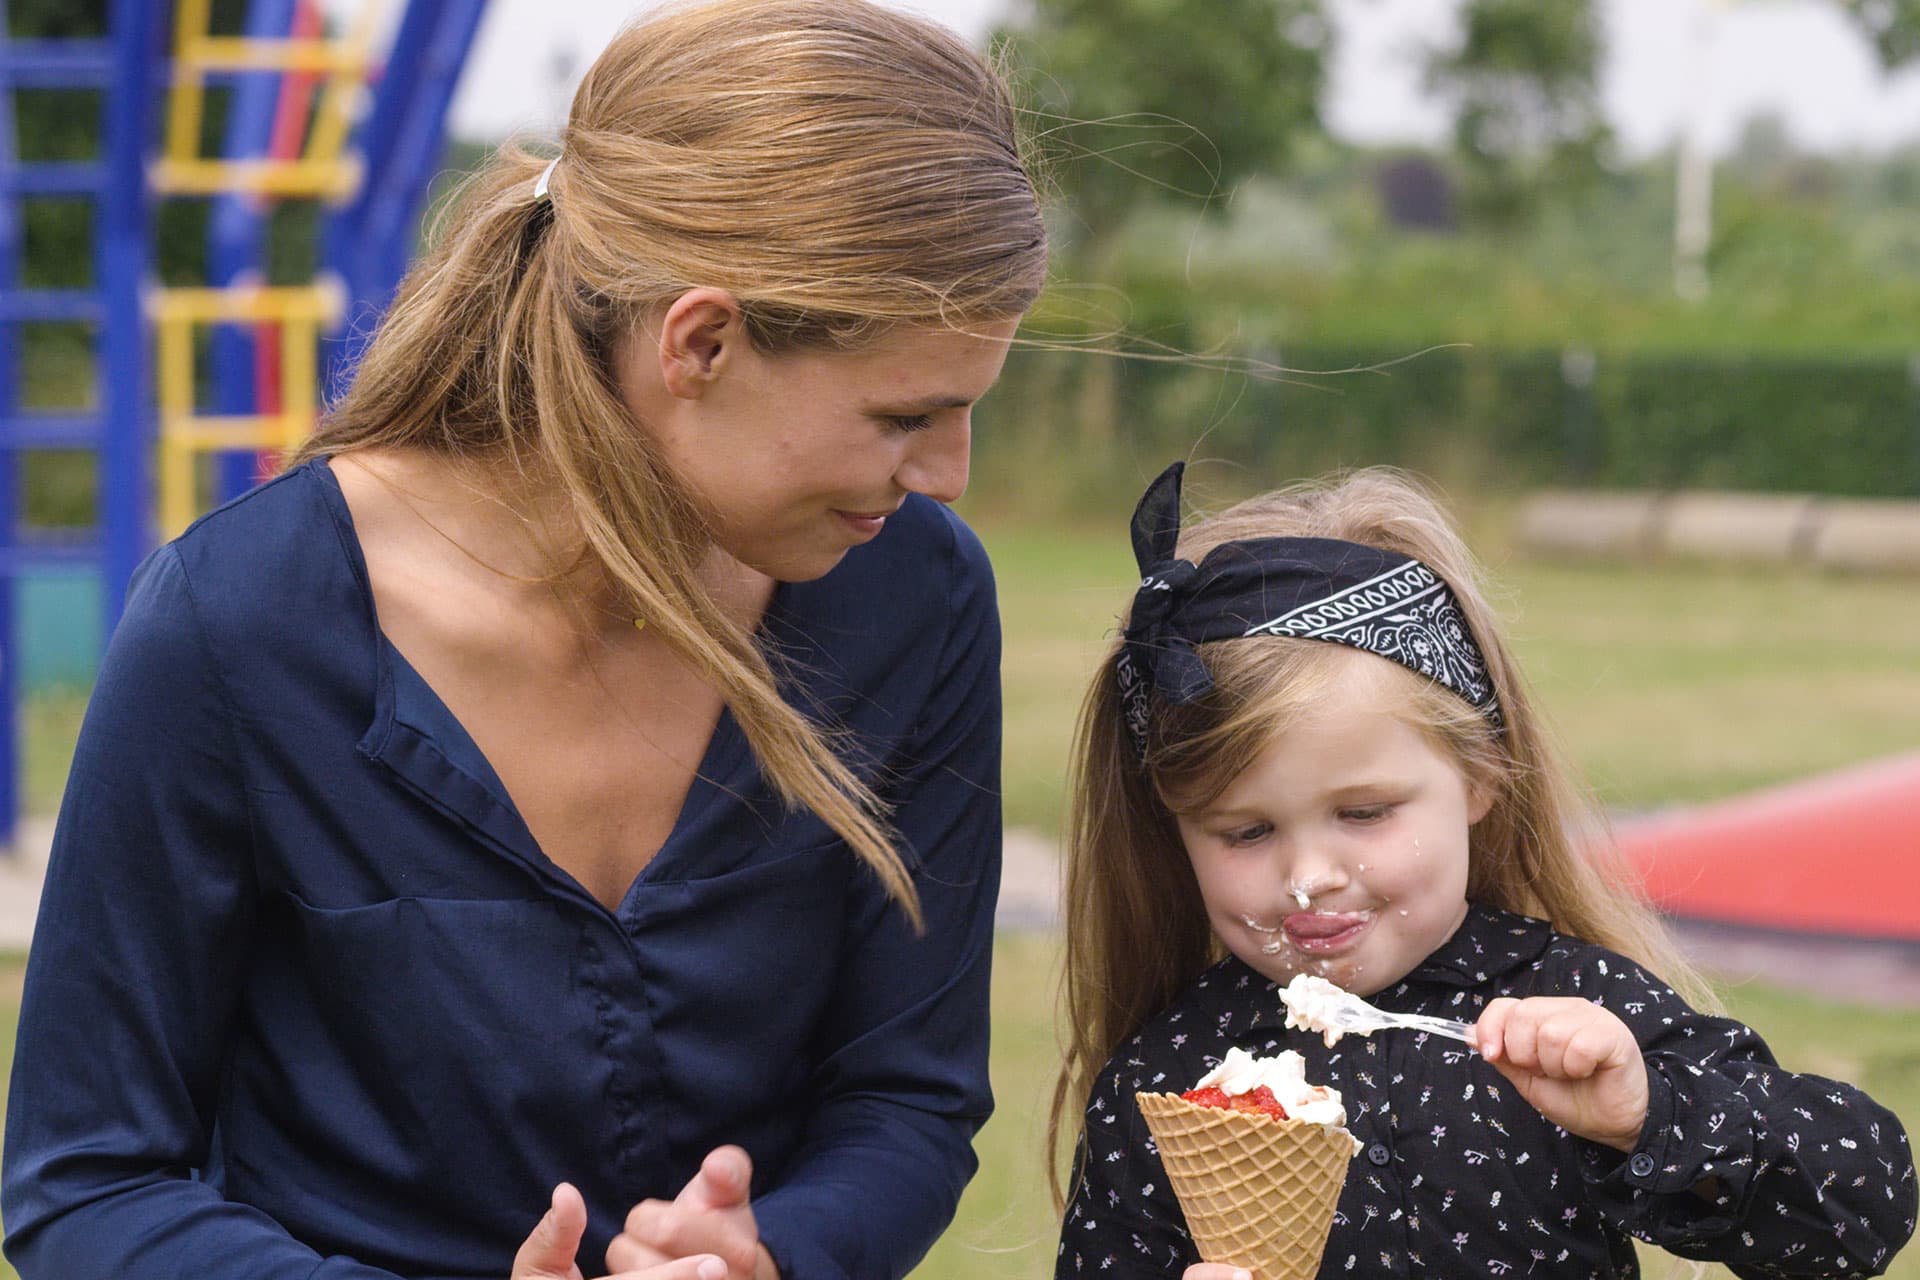
[[[1000,622],[958,522],[931,693],[891,762],[895,827],[925,933],[858,877],[793,1163],[755,1201],[785,1280],[904,1276],[952,1221],[993,1111],[993,910],[1000,887]]]

